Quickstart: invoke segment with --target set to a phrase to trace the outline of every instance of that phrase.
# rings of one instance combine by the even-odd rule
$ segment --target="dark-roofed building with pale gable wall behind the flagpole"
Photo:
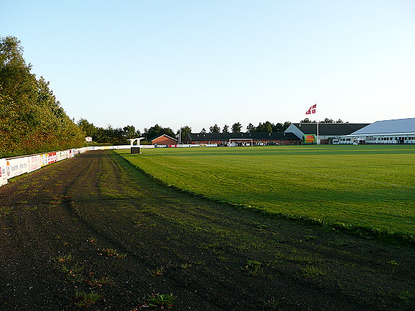
[[[285,133],[293,133],[302,139],[304,135],[316,135],[320,144],[337,143],[342,135],[349,135],[368,126],[369,123],[291,123]]]

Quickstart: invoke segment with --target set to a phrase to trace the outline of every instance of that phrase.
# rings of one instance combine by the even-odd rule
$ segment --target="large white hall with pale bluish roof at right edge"
[[[376,121],[338,139],[339,144],[415,144],[415,117]]]

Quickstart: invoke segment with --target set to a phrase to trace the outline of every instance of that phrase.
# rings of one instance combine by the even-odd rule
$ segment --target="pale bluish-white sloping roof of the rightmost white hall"
[[[353,134],[408,133],[415,132],[415,117],[376,121]]]

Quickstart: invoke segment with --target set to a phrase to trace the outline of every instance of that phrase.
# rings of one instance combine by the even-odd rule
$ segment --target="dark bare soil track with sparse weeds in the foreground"
[[[191,196],[111,151],[1,187],[0,245],[1,310],[78,309],[91,291],[89,310],[157,293],[172,310],[415,309],[414,247]]]

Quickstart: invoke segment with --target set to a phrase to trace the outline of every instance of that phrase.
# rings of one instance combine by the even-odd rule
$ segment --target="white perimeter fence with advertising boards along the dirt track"
[[[217,147],[217,144],[172,144],[172,145],[140,145],[142,149],[146,148],[165,148],[165,147]],[[83,147],[77,149],[68,149],[64,151],[53,151],[48,153],[39,153],[31,156],[21,156],[16,158],[0,159],[0,186],[6,185],[8,179],[19,176],[24,173],[36,171],[48,164],[70,159],[77,154],[89,150],[109,150],[109,149],[130,149],[131,146],[103,146],[103,147]]]

